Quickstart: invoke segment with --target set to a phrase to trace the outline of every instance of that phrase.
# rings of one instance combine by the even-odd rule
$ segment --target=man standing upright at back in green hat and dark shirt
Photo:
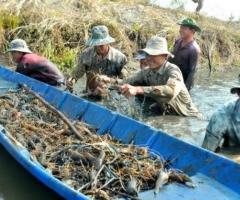
[[[200,47],[194,39],[195,32],[201,29],[191,18],[186,18],[177,24],[180,25],[180,38],[176,40],[173,48],[174,58],[169,61],[177,65],[184,78],[184,83],[190,91],[194,85],[194,75],[196,72]]]

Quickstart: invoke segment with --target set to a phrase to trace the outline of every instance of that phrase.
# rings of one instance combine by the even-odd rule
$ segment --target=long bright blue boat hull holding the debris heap
[[[202,148],[190,145],[167,135],[161,130],[112,112],[68,92],[31,79],[0,66],[0,92],[18,84],[26,84],[69,118],[82,120],[98,129],[98,134],[109,132],[123,143],[134,140],[136,145],[148,146],[165,158],[176,158],[173,167],[191,176],[197,187],[192,189],[172,183],[164,186],[158,195],[153,191],[139,194],[146,200],[234,200],[240,199],[240,165]],[[94,116],[94,117],[93,117]],[[16,145],[0,130],[0,143],[34,177],[60,196],[69,200],[89,199],[49,174],[44,167],[31,159],[27,149]]]

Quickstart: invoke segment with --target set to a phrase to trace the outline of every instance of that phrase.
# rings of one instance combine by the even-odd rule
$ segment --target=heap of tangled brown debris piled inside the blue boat
[[[0,123],[15,145],[92,199],[139,199],[139,192],[155,189],[156,194],[169,182],[194,186],[190,177],[147,148],[122,144],[109,134],[99,136],[84,122],[69,122],[80,137],[34,92],[23,88],[0,96]]]

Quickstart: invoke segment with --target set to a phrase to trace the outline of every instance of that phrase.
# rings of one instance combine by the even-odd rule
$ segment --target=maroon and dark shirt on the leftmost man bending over
[[[49,85],[59,86],[64,83],[64,76],[55,64],[33,53],[22,56],[17,62],[16,72]]]

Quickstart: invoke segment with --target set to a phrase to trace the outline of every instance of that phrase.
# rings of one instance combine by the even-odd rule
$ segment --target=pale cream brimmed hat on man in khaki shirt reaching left
[[[167,40],[159,36],[154,36],[151,39],[149,39],[146,48],[141,49],[139,52],[145,52],[148,55],[152,56],[166,54],[171,57],[174,57],[174,55],[168,51]]]

